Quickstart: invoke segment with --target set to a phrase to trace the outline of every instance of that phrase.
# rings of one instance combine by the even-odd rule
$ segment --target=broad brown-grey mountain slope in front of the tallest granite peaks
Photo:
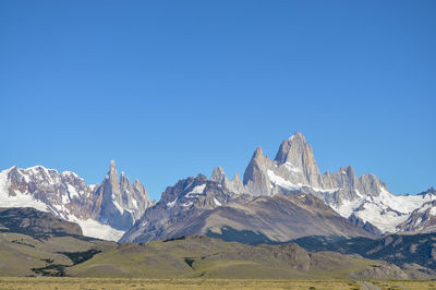
[[[214,179],[219,180],[219,170],[214,171]],[[238,178],[228,184],[239,184]],[[305,235],[373,237],[311,194],[252,196],[231,192],[199,174],[167,188],[121,242],[189,234],[249,243],[284,242]]]

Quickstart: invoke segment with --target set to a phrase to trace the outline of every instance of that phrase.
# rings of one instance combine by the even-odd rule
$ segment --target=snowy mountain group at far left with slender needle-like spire
[[[34,207],[77,222],[84,234],[117,241],[152,205],[143,184],[117,177],[112,161],[101,185],[43,166],[0,172],[0,207]]]

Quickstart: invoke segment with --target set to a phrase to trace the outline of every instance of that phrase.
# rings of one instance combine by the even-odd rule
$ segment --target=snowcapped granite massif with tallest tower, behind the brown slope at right
[[[311,193],[346,218],[359,218],[383,232],[397,232],[413,210],[436,200],[428,192],[420,195],[393,195],[377,177],[356,177],[352,167],[320,174],[312,147],[300,132],[283,141],[274,160],[256,148],[243,182],[237,176],[229,181],[222,170],[214,170],[216,180],[229,191],[254,196]]]

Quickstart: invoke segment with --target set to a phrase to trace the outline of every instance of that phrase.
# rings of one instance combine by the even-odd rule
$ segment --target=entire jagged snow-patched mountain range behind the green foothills
[[[323,237],[376,238],[436,229],[436,192],[395,195],[352,167],[320,173],[301,133],[274,159],[256,148],[243,178],[221,167],[168,186],[153,202],[145,186],[111,161],[101,184],[43,166],[0,172],[0,207],[33,207],[81,226],[85,235],[143,243],[187,234],[246,243]]]

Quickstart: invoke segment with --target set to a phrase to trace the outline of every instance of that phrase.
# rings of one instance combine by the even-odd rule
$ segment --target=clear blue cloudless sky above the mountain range
[[[0,1],[0,168],[154,198],[301,131],[322,171],[436,185],[436,1]]]

